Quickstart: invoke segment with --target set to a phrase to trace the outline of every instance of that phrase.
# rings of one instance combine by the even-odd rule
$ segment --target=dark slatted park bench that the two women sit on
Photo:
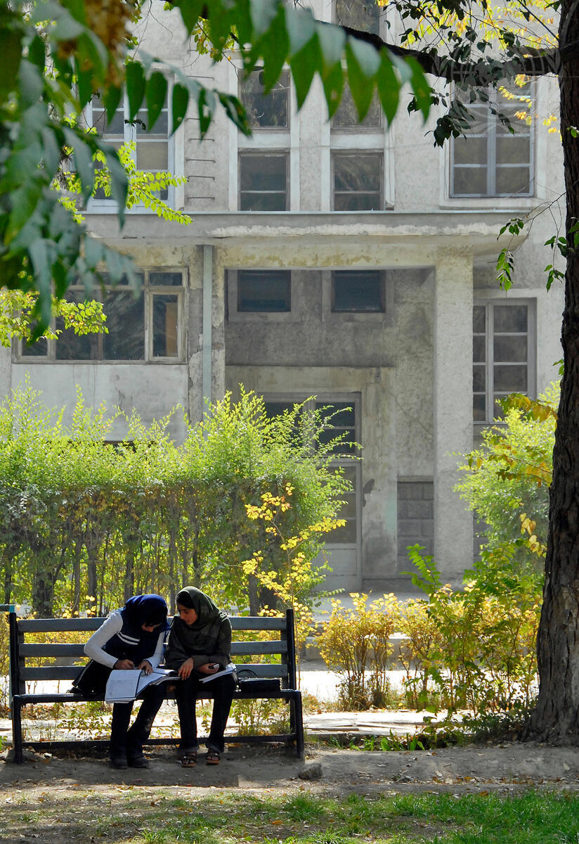
[[[36,690],[36,684],[43,681],[70,681],[78,677],[86,663],[83,643],[67,641],[67,634],[83,633],[88,636],[99,628],[105,619],[19,619],[16,613],[8,614],[10,629],[10,711],[13,730],[13,761],[22,764],[24,761],[23,745],[35,750],[51,749],[95,749],[99,745],[106,745],[105,739],[75,739],[75,740],[23,740],[22,710],[24,706],[35,703],[77,703],[79,701],[102,700],[96,695],[78,695],[70,691]],[[303,715],[302,694],[297,688],[296,676],[296,642],[293,626],[293,611],[288,609],[283,618],[260,616],[231,616],[233,629],[232,659],[240,670],[240,674],[247,674],[260,678],[279,678],[281,688],[272,690],[252,690],[250,692],[236,690],[234,700],[281,699],[287,701],[290,707],[289,733],[275,735],[236,735],[228,736],[228,742],[284,742],[293,744],[299,758],[303,757]],[[244,639],[239,633],[242,631],[278,631],[279,636],[272,641]],[[62,634],[62,641],[37,642],[27,641],[27,634],[38,633]],[[237,639],[236,641],[236,634]],[[70,639],[70,636],[68,637]],[[78,638],[78,637],[76,637]],[[265,663],[255,661],[265,656],[279,657],[279,662]],[[248,662],[254,657],[253,662]],[[83,659],[82,664],[78,660]],[[75,664],[76,663],[76,664]],[[60,689],[60,683],[58,689]],[[207,684],[206,695],[211,699],[212,694]],[[148,744],[175,744],[175,738],[150,738]]]

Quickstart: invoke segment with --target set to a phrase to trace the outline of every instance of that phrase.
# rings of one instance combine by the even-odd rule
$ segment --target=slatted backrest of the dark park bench
[[[27,681],[72,680],[78,677],[86,662],[84,643],[67,641],[67,633],[80,632],[86,634],[88,639],[103,621],[105,619],[102,618],[19,619],[15,613],[10,613],[10,681],[13,694],[24,695]],[[283,618],[233,615],[230,621],[233,630],[233,662],[239,668],[243,665],[257,677],[281,678],[281,686],[285,689],[297,688],[292,609],[287,609]],[[239,641],[239,632],[264,630],[277,632],[278,636],[271,641],[257,638]],[[34,642],[26,641],[27,633],[59,633],[62,636],[59,636],[60,641],[57,642]],[[265,656],[276,657],[276,662],[264,663],[260,657]],[[32,659],[37,664],[27,663]],[[83,662],[75,664],[78,660]]]

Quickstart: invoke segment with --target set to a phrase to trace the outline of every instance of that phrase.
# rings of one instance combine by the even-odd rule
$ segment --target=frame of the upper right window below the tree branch
[[[533,100],[536,100],[536,86],[533,83],[530,95]],[[489,102],[488,103],[480,103],[477,105],[485,106],[485,132],[469,134],[466,133],[465,137],[482,137],[486,138],[486,159],[481,164],[474,164],[474,165],[457,165],[454,161],[454,149],[455,149],[455,138],[451,138],[451,143],[449,146],[449,182],[448,182],[448,198],[452,200],[468,200],[468,199],[518,199],[521,198],[523,200],[528,200],[536,196],[536,176],[535,176],[535,162],[536,162],[536,144],[537,138],[535,133],[534,122],[528,127],[528,143],[529,143],[529,160],[528,163],[522,162],[520,164],[521,167],[525,166],[528,167],[528,192],[497,192],[496,190],[496,174],[497,170],[501,167],[507,167],[509,165],[499,165],[496,163],[496,150],[497,150],[497,138],[500,137],[497,135],[497,127],[499,127],[500,121],[496,114],[493,114],[491,111],[491,106],[494,108],[499,108],[500,106],[497,105],[498,98],[500,93],[496,89],[488,89],[489,93]],[[454,93],[456,96],[456,92]],[[507,100],[505,100],[507,102]],[[481,109],[482,111],[482,109]],[[517,123],[513,124],[517,126]],[[527,133],[515,133],[512,135],[512,138],[516,138],[517,134],[519,137],[527,137]],[[464,135],[461,135],[461,139],[464,138]],[[470,193],[456,193],[454,190],[454,176],[455,176],[455,167],[467,167],[468,169],[472,170],[481,170],[486,168],[486,190],[484,193],[477,193],[477,192],[470,192]]]

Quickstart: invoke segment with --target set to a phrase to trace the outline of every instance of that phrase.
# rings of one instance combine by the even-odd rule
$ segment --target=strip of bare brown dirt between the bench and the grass
[[[3,754],[6,757],[6,753]],[[345,795],[452,791],[510,793],[539,786],[579,791],[579,750],[539,744],[469,746],[432,751],[359,751],[309,744],[304,760],[277,746],[235,746],[220,766],[183,769],[174,749],[147,750],[147,770],[114,771],[103,758],[36,755],[27,752],[22,766],[0,760],[0,806],[22,791],[50,787],[94,789],[99,793],[120,785],[247,791],[262,789]],[[4,809],[5,807],[3,807]],[[0,839],[1,840],[1,839]]]

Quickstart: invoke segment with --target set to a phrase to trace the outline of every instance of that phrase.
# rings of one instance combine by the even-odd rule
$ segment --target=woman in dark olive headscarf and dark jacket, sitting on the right
[[[201,679],[227,668],[231,653],[231,623],[204,592],[189,586],[177,595],[175,614],[165,652],[165,665],[179,674],[175,696],[181,728],[181,765],[196,764],[197,723],[195,705],[201,695]],[[211,681],[213,714],[207,738],[207,765],[218,765],[224,749],[223,735],[228,722],[235,681],[225,674]]]

